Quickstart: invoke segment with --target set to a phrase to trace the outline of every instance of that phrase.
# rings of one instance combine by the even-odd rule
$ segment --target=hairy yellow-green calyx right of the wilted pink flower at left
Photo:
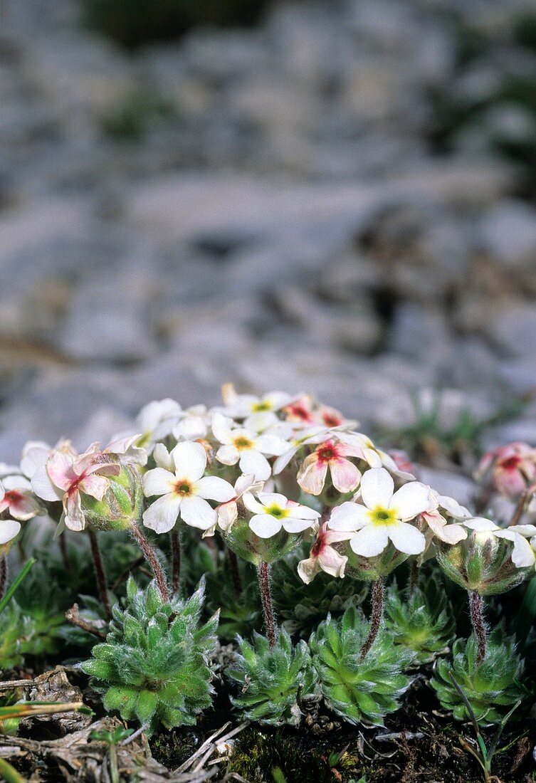
[[[95,530],[126,530],[140,521],[143,511],[141,476],[135,465],[121,465],[117,476],[107,479],[103,500],[81,494],[85,521]]]

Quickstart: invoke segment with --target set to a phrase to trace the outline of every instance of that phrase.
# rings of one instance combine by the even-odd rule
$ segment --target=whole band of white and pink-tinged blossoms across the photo
[[[502,536],[514,544],[515,565],[536,563],[536,526],[501,529],[474,518],[415,480],[404,454],[377,448],[356,425],[310,395],[239,395],[225,384],[223,405],[213,409],[149,402],[135,430],[105,448],[94,443],[78,454],[69,441],[27,443],[20,467],[0,466],[0,545],[39,515],[85,529],[86,501],[102,501],[130,466],[146,498],[142,523],[157,533],[182,522],[212,536],[240,518],[260,539],[316,536],[300,562],[305,582],[321,570],[344,576],[351,553],[371,558],[394,547],[424,557],[434,540],[454,545],[467,536]],[[531,455],[514,452],[506,456],[516,457],[519,479],[519,462]]]

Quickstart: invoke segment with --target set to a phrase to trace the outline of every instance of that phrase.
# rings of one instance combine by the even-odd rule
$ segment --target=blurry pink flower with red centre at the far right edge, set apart
[[[516,442],[488,451],[476,473],[478,480],[484,476],[498,493],[516,500],[536,482],[536,449]]]

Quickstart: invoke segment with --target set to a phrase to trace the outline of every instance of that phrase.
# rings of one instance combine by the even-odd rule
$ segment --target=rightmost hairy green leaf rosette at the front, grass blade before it
[[[513,637],[505,635],[501,626],[487,639],[486,655],[477,663],[477,637],[457,639],[451,660],[437,660],[430,682],[444,709],[456,720],[470,720],[462,696],[451,675],[462,689],[481,727],[501,723],[517,702],[526,702],[530,695],[522,685],[524,661],[516,654]],[[514,719],[518,711],[514,713]]]

